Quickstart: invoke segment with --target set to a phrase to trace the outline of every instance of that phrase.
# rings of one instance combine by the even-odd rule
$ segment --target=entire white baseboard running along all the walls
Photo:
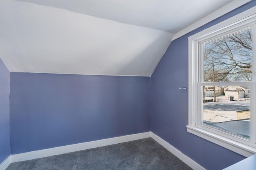
[[[4,160],[4,162],[2,162],[0,164],[0,170],[6,169],[10,165],[10,163],[13,163],[13,162],[20,162],[20,161],[24,161],[24,160],[43,158],[46,156],[54,156],[54,155],[58,155],[58,154],[76,152],[79,150],[91,149],[91,148],[96,148],[96,147],[104,147],[107,145],[114,145],[114,144],[118,144],[118,143],[129,142],[129,141],[134,141],[134,140],[138,140],[138,139],[144,139],[144,138],[148,138],[148,137],[152,137],[156,142],[158,142],[164,148],[166,148],[167,150],[172,152],[172,154],[177,156],[180,160],[185,162],[192,169],[205,170],[205,168],[200,166],[194,160],[190,159],[188,156],[186,156],[185,154],[180,152],[178,149],[174,148],[172,145],[170,145],[169,143],[164,141],[164,139],[158,137],[151,131],[145,132],[145,133],[133,134],[133,135],[126,135],[126,136],[121,136],[121,137],[114,137],[114,138],[109,138],[109,139],[102,139],[102,140],[98,140],[98,141],[78,143],[78,144],[74,144],[74,145],[66,145],[63,147],[55,147],[55,148],[50,148],[50,149],[43,149],[43,150],[36,150],[36,151],[32,151],[32,152],[13,154],[13,155],[10,155],[8,158],[6,158],[6,160]]]

